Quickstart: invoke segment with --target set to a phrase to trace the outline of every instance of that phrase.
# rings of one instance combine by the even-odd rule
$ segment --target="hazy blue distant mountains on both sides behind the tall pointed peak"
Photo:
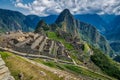
[[[115,42],[115,44],[116,42],[119,42],[120,16],[80,14],[80,15],[74,15],[74,17],[83,23],[85,22],[96,27],[98,31],[104,36],[106,36],[106,38],[110,42]],[[58,15],[50,15],[46,17],[40,17],[37,15],[26,16],[17,11],[0,9],[0,32],[16,31],[16,30],[22,30],[25,32],[33,31],[40,20],[44,20],[47,24],[52,24],[55,22],[57,18]],[[111,44],[112,47],[113,44],[114,43]]]

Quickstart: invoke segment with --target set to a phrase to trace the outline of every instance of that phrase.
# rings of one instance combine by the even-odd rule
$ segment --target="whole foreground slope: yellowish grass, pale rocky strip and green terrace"
[[[39,58],[29,60],[5,51],[0,54],[15,80],[116,80],[82,66]]]

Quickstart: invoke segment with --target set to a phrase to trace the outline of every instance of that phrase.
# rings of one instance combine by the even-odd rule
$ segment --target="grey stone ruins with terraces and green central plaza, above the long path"
[[[4,34],[1,35],[0,46],[17,51],[20,54],[23,53],[26,57],[49,57],[49,59],[93,68],[94,64],[90,60],[90,55],[93,52],[86,43],[81,43],[77,38],[72,39],[71,36],[66,39],[58,37],[55,32],[46,32],[46,35],[48,37],[32,32]]]

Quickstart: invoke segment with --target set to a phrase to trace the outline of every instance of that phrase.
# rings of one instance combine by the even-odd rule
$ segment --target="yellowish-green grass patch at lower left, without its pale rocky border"
[[[20,80],[18,77],[19,73],[24,75],[24,80],[63,80],[52,72],[35,66],[19,56],[8,52],[0,52],[0,54],[16,80]],[[41,75],[40,71],[45,72],[47,76]]]

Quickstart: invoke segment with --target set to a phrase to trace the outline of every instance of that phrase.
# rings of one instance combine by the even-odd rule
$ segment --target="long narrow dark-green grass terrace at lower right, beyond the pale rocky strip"
[[[74,66],[74,65],[70,65],[70,64],[55,63],[53,61],[43,61],[42,59],[34,59],[34,61],[42,63],[42,64],[47,65],[49,67],[53,67],[53,68],[57,68],[57,69],[71,72],[71,73],[78,75],[78,76],[80,75],[82,77],[89,77],[92,80],[93,79],[115,80],[114,78],[110,78],[104,74],[103,75],[97,74],[97,73],[92,72],[92,71],[85,69],[83,67],[78,67],[78,66]]]

